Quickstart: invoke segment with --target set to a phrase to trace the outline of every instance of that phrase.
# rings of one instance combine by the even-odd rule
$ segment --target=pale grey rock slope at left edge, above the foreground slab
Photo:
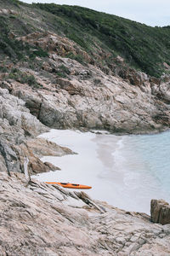
[[[2,155],[1,171],[23,172],[20,154],[15,150],[25,141],[27,135],[36,135],[48,131],[29,110],[25,102],[0,89],[0,152]]]

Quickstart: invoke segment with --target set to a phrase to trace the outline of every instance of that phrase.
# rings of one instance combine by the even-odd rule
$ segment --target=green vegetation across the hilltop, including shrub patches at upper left
[[[19,0],[0,0],[0,6],[15,9],[19,13],[0,15],[1,59],[8,55],[13,61],[27,61],[36,56],[48,55],[41,48],[23,44],[10,36],[11,31],[17,36],[40,31],[36,20],[38,17],[42,20],[42,29],[65,35],[79,44],[92,58],[95,59],[101,51],[109,53],[110,57],[104,57],[100,63],[103,66],[109,66],[113,57],[120,55],[130,67],[160,77],[165,72],[163,62],[170,65],[170,26],[151,27],[91,9],[54,3],[30,5]],[[31,19],[28,14],[32,15]],[[70,53],[68,57],[83,63],[82,55]]]

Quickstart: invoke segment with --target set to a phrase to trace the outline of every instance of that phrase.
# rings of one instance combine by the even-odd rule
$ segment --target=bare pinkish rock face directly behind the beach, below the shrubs
[[[49,127],[145,133],[169,126],[169,107],[153,96],[144,73],[139,74],[140,84],[134,86],[106,75],[98,67],[84,67],[77,61],[50,55],[48,66],[53,70],[61,63],[69,70],[67,78],[50,73],[50,79],[42,79],[38,73],[27,69],[27,73],[34,74],[37,82],[43,85],[42,89],[32,90],[26,84],[23,86],[11,80],[1,86],[25,101],[31,113]],[[161,91],[159,84],[155,86]]]

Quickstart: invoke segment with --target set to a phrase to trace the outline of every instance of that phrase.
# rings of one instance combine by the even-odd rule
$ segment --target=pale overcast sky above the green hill
[[[21,0],[88,7],[150,26],[170,25],[170,0]]]

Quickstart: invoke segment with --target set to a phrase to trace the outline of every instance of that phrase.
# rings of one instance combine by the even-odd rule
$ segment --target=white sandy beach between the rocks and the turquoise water
[[[127,136],[51,130],[40,137],[78,153],[43,157],[61,171],[39,174],[40,181],[91,185],[93,189],[85,191],[88,195],[127,211],[150,213],[150,199],[163,196],[135,148],[128,151]]]

